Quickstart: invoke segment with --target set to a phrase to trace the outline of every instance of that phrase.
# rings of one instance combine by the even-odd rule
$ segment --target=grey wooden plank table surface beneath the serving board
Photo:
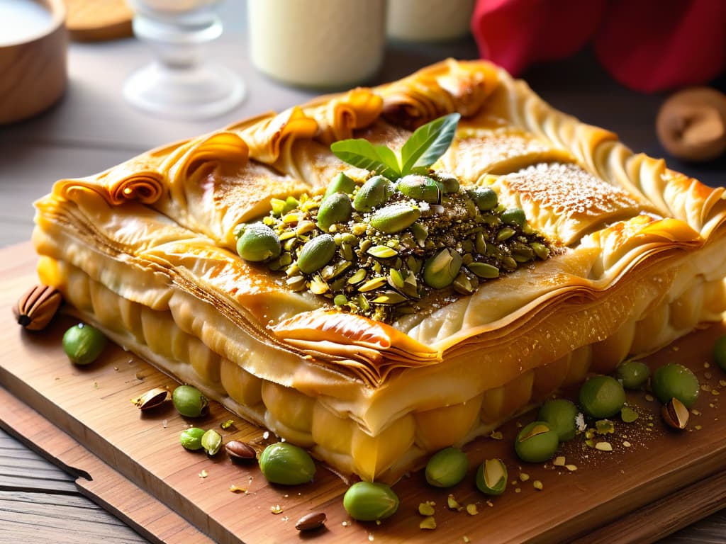
[[[124,79],[150,59],[150,51],[139,41],[70,44],[68,91],[62,101],[37,118],[0,126],[0,247],[29,239],[31,202],[57,178],[97,173],[151,147],[266,110],[283,110],[317,94],[282,86],[254,70],[248,58],[244,9],[241,0],[222,5],[225,33],[211,44],[208,54],[244,78],[248,96],[236,110],[204,122],[160,120],[123,102]],[[400,78],[446,57],[476,56],[476,47],[468,39],[441,45],[389,44],[374,83]],[[534,67],[524,77],[560,110],[615,131],[632,149],[666,156],[654,131],[656,113],[666,95],[622,88],[600,70],[589,51]],[[725,83],[722,77],[714,85],[723,91]],[[726,157],[700,166],[672,159],[668,163],[707,184],[726,184]],[[147,542],[78,493],[73,480],[0,430],[0,543]],[[726,510],[661,542],[724,543]]]

